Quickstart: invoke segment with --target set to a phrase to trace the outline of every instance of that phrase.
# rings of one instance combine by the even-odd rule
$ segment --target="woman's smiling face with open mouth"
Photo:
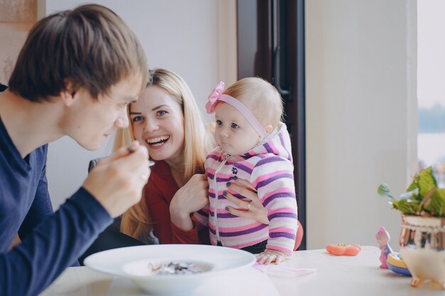
[[[181,104],[163,88],[151,85],[129,107],[134,138],[154,160],[181,162],[184,115]]]

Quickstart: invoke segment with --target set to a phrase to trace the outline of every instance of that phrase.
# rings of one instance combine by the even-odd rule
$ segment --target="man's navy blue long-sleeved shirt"
[[[23,159],[1,119],[0,149],[0,295],[37,295],[77,262],[112,218],[82,188],[53,213],[48,144]],[[9,250],[16,233],[21,243]]]

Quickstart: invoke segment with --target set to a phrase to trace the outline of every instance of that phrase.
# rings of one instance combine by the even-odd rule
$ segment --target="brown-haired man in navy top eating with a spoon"
[[[136,36],[103,6],[53,14],[32,28],[0,93],[0,295],[37,295],[139,201],[150,171],[137,142],[97,164],[55,213],[45,162],[48,143],[60,137],[97,149],[127,127],[127,105],[147,75]],[[11,248],[16,234],[21,243]]]

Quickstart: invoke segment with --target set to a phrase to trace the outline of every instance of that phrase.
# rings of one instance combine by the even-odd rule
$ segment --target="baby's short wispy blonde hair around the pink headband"
[[[242,78],[224,93],[246,105],[263,126],[272,125],[275,128],[283,119],[282,96],[274,85],[262,78]]]

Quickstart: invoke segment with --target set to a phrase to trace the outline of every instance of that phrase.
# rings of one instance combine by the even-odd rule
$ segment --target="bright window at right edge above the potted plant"
[[[445,187],[445,2],[417,2],[419,169],[433,166]]]

